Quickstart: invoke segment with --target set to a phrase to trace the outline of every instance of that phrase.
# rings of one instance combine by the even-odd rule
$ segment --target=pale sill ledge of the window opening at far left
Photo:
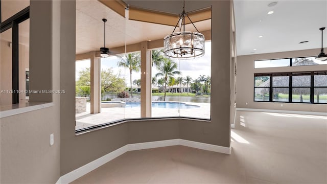
[[[30,112],[33,110],[39,110],[47,107],[54,106],[53,102],[50,103],[20,103],[3,106],[0,108],[0,118],[14,116],[20,113]]]

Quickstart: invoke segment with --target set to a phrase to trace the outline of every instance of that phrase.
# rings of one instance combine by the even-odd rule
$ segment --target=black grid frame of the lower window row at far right
[[[269,82],[270,82],[270,86],[266,87],[269,88],[269,101],[259,101],[259,100],[255,100],[255,88],[263,88],[263,87],[259,87],[259,86],[255,86],[255,84],[253,83],[253,102],[278,102],[278,103],[301,103],[301,104],[327,104],[327,103],[320,103],[320,102],[314,102],[314,89],[315,88],[327,88],[327,84],[326,86],[314,86],[314,76],[317,75],[327,75],[327,71],[310,71],[310,72],[280,72],[280,73],[255,73],[254,74],[254,78],[255,77],[269,77]],[[288,101],[273,101],[273,86],[272,86],[272,80],[273,77],[276,76],[289,76],[289,86],[285,87],[285,88],[289,88],[289,100]],[[293,76],[310,76],[310,86],[293,86]],[[279,88],[279,87],[278,87]],[[284,88],[284,87],[283,87]],[[292,101],[292,96],[293,96],[293,88],[310,88],[310,102],[293,102]]]

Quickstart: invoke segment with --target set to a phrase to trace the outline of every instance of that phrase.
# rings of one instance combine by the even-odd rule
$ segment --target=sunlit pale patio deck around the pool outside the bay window
[[[178,109],[152,108],[152,117],[192,117],[200,119],[210,118],[209,103],[183,102],[189,105],[198,105],[198,108]],[[169,116],[168,116],[169,115]],[[108,107],[101,108],[101,113],[91,114],[90,103],[86,104],[86,112],[76,114],[76,130],[124,119],[141,118],[141,107]]]

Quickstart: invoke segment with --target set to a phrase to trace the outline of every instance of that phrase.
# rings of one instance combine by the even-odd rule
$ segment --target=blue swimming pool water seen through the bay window
[[[132,107],[139,107],[141,106],[141,103],[135,102],[135,103],[126,103],[126,108],[132,108]],[[182,102],[152,102],[152,107],[158,107],[158,108],[176,108],[176,109],[187,109],[187,108],[198,108],[200,106],[198,105],[189,105]]]

